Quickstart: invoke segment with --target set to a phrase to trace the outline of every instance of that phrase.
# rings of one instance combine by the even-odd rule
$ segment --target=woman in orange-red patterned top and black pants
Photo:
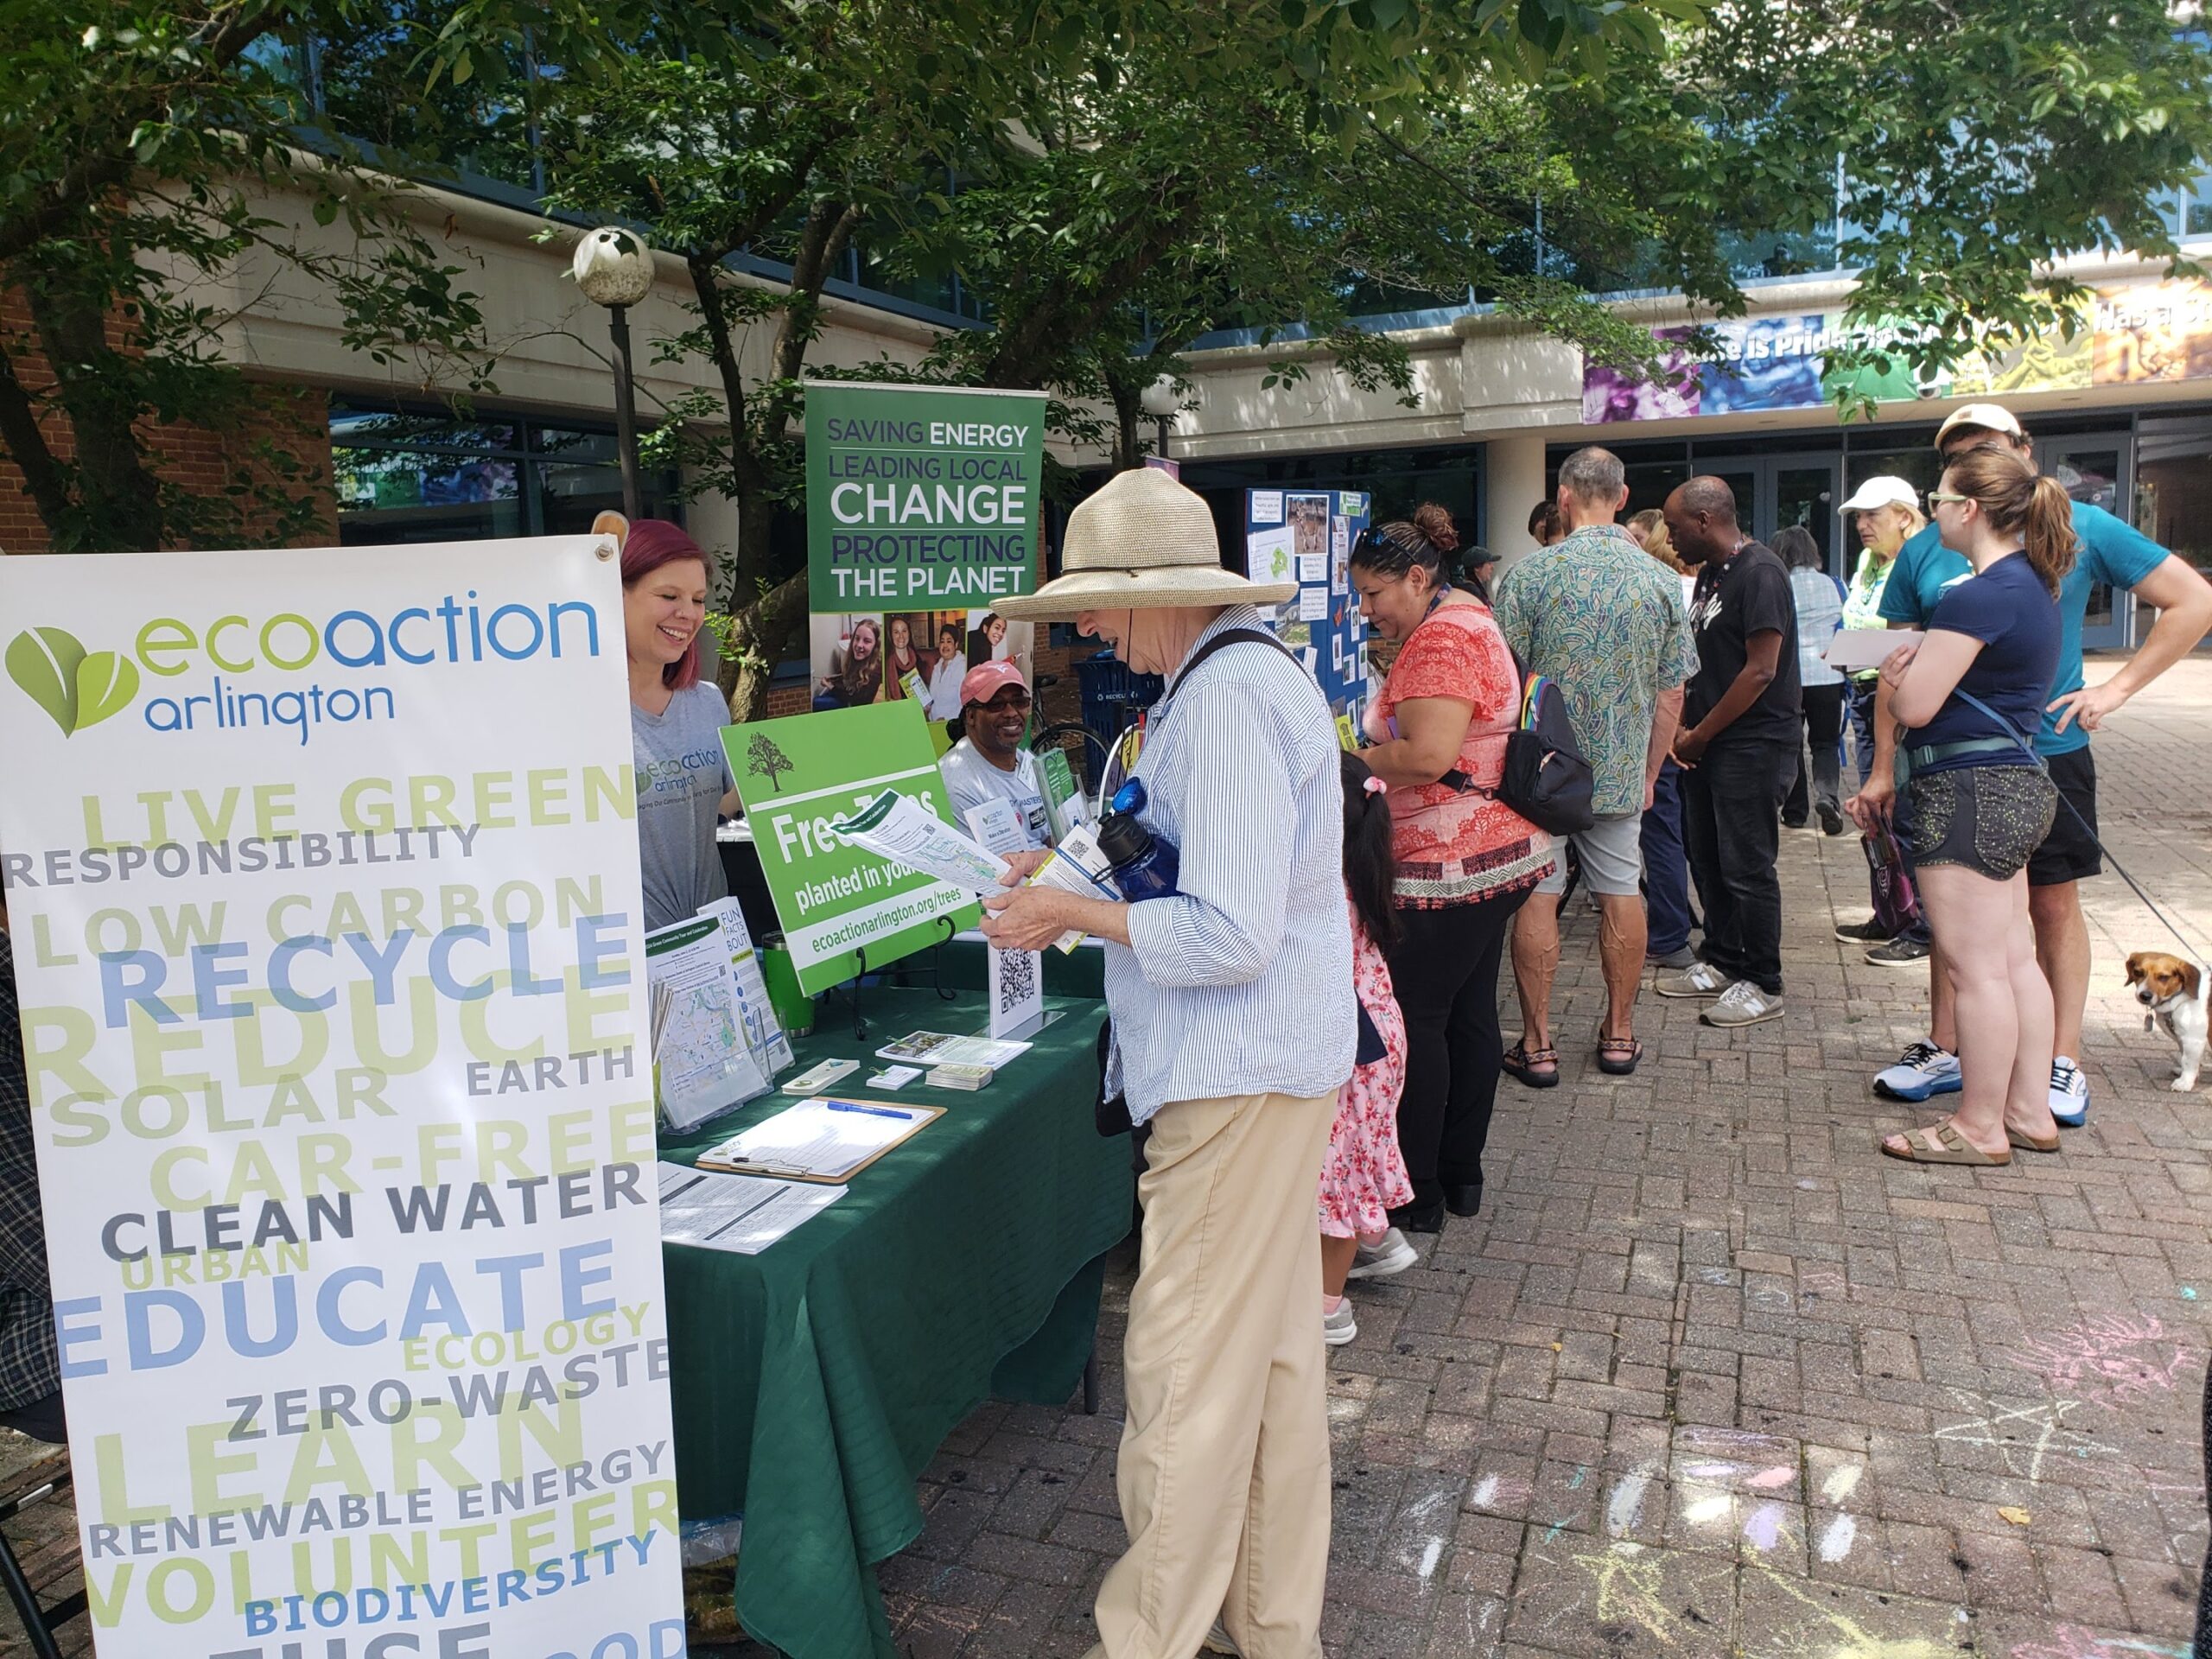
[[[1367,710],[1363,759],[1391,787],[1398,827],[1389,973],[1407,1029],[1398,1146],[1413,1203],[1391,1221],[1416,1232],[1482,1208],[1504,1055],[1498,964],[1513,911],[1551,872],[1551,838],[1489,794],[1520,723],[1520,670],[1491,608],[1447,580],[1458,546],[1451,513],[1422,504],[1352,549],[1360,611],[1402,641]]]

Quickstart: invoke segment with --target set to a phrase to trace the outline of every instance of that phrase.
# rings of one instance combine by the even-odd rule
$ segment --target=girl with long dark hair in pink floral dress
[[[1358,1336],[1345,1279],[1380,1279],[1413,1265],[1413,1248],[1387,1210],[1413,1201],[1398,1152],[1398,1091],[1405,1086],[1405,1020],[1391,991],[1383,942],[1396,938],[1389,801],[1383,779],[1356,754],[1343,759],[1345,898],[1352,905],[1352,989],[1367,1022],[1363,1051],[1383,1057],[1352,1071],[1336,1097],[1329,1155],[1321,1164],[1321,1314],[1329,1345]],[[1374,1026],[1374,1035],[1365,1026]]]

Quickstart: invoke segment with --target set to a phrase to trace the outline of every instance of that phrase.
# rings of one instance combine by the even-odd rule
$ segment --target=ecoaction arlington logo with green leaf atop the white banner
[[[316,626],[296,611],[184,622],[153,617],[131,650],[86,650],[66,628],[24,628],[7,646],[15,681],[62,737],[137,706],[153,732],[217,732],[288,726],[305,745],[325,726],[398,719],[394,681],[436,664],[597,657],[599,613],[582,599],[487,608],[445,595],[436,606],[405,606],[389,617],[338,611]],[[345,670],[330,684],[301,677]],[[150,695],[157,681],[184,679],[177,695]]]

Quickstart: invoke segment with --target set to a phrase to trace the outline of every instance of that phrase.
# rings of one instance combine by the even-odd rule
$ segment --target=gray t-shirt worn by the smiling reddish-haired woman
[[[714,814],[737,787],[721,730],[730,708],[721,692],[699,681],[648,714],[630,703],[630,743],[637,750],[637,863],[646,878],[646,927],[681,922],[717,898],[728,898]]]

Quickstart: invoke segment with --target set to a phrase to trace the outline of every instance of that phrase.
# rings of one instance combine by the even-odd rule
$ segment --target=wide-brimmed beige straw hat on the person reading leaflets
[[[1117,473],[1068,513],[1062,575],[1018,599],[993,599],[1002,617],[1073,617],[1077,611],[1281,604],[1296,582],[1248,582],[1221,568],[1214,515],[1197,491],[1159,467]]]

